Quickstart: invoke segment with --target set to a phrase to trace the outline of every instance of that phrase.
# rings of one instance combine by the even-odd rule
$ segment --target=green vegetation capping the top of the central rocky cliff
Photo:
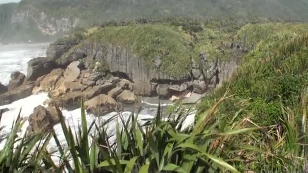
[[[200,53],[209,59],[228,60],[240,57],[227,48],[232,42],[236,22],[220,28],[220,22],[190,19],[140,20],[124,23],[106,22],[100,27],[79,29],[70,38],[79,37],[80,43],[57,61],[64,62],[74,50],[85,45],[99,45],[121,55],[124,50],[139,57],[149,69],[158,70],[175,78],[189,76],[192,60],[200,61]],[[230,29],[232,28],[232,29]],[[61,41],[61,40],[59,40]],[[110,50],[105,50],[105,52]],[[160,61],[161,63],[157,63]],[[95,63],[95,62],[94,62]],[[94,64],[91,65],[94,67]]]

